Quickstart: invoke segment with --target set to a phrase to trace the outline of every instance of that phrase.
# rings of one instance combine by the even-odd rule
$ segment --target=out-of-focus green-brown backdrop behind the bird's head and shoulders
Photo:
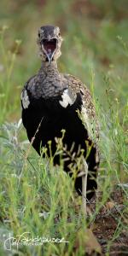
[[[1,0],[1,122],[20,118],[20,91],[40,67],[36,39],[38,27],[46,24],[61,27],[61,72],[78,76],[89,87],[93,79],[103,108],[106,90],[113,102],[118,98],[123,106],[128,80],[127,10],[127,0]]]

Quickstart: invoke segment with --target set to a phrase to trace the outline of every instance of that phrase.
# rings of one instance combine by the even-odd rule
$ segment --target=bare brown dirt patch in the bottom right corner
[[[100,195],[98,197],[100,199]],[[91,227],[102,247],[102,255],[107,252],[108,255],[128,255],[128,211],[123,197],[121,189],[116,188]]]

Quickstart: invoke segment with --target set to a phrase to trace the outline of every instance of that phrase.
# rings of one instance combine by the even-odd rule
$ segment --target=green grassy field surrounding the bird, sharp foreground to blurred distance
[[[5,2],[8,3],[7,0],[2,1],[2,7]],[[126,3],[124,1],[120,6],[118,1],[118,4],[112,6],[109,1],[107,7],[100,1],[90,2],[91,6],[85,6],[80,1],[60,1],[57,8],[55,1],[42,2],[43,5],[40,6],[39,2],[37,4],[34,1],[24,5],[14,2],[12,6],[7,5],[6,14],[2,11],[3,8],[1,10],[1,255],[84,255],[85,251],[88,252],[84,241],[87,236],[85,228],[90,227],[100,242],[104,255],[115,254],[117,244],[125,244],[126,247]],[[65,15],[65,20],[61,19],[62,15]],[[39,68],[35,41],[37,28],[44,23],[61,26],[65,40],[59,68],[61,72],[72,73],[88,84],[101,125],[98,193],[95,207],[94,202],[89,203],[91,213],[86,220],[79,207],[80,199],[73,192],[73,181],[63,172],[62,164],[54,167],[52,157],[50,160],[47,157],[40,158],[29,146],[26,131],[19,122],[20,91],[26,80]],[[108,202],[113,202],[114,207],[108,209]],[[112,225],[112,232],[108,230],[108,234],[107,228],[103,229],[104,219],[106,224]],[[101,236],[98,229],[102,229]],[[68,242],[44,242],[44,246],[19,245],[18,248],[12,246],[9,251],[5,249],[5,245],[9,248],[9,241],[4,244],[9,234],[18,239],[24,232],[29,232],[24,235],[24,239],[26,237],[30,241],[33,236],[58,238],[58,241],[64,238]],[[128,253],[127,247],[124,249],[122,246],[119,250]]]

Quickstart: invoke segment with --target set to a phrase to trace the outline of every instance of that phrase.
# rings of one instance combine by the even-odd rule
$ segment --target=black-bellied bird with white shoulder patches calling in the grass
[[[84,193],[85,200],[90,200],[97,189],[99,124],[87,86],[73,75],[58,70],[62,40],[58,26],[47,25],[38,29],[41,67],[21,91],[21,117],[27,137],[39,155],[46,147],[50,156],[49,142],[54,155],[57,139],[65,131],[62,138],[64,171],[69,176],[73,176],[70,166],[74,164],[75,157],[67,158],[66,151],[76,157],[83,152],[83,170],[77,173],[74,186],[79,195]],[[54,165],[60,165],[57,155]]]

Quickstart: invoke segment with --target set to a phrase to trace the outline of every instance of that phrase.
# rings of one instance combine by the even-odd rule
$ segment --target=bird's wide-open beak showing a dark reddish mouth
[[[57,39],[51,38],[51,39],[44,39],[41,42],[42,49],[45,53],[45,55],[48,58],[48,61],[51,62],[53,60],[53,56],[55,54],[56,46],[57,46]]]

